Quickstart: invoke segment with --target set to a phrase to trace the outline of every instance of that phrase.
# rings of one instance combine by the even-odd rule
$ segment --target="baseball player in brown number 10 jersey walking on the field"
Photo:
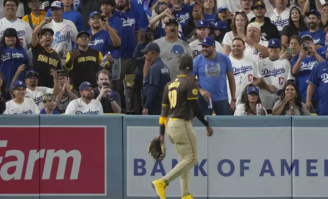
[[[197,141],[192,120],[196,116],[212,136],[213,129],[205,120],[197,104],[198,85],[191,75],[193,58],[185,55],[180,59],[178,75],[170,81],[163,92],[162,110],[159,118],[160,132],[157,140],[164,142],[165,128],[171,143],[178,152],[179,163],[164,177],[152,182],[158,198],[165,199],[169,183],[180,177],[182,199],[192,199],[189,193],[190,169],[198,163]]]

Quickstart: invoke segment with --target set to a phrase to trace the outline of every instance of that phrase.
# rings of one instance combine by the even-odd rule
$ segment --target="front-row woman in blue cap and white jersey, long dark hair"
[[[264,107],[257,113],[256,105],[261,104],[259,89],[255,86],[248,86],[247,96],[244,103],[236,106],[234,115],[267,115]]]

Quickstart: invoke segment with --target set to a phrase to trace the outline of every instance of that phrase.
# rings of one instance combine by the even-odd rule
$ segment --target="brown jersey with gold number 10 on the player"
[[[198,85],[192,76],[178,75],[170,81],[163,92],[162,106],[169,106],[169,116],[179,119],[193,119],[193,107],[188,100],[197,100]]]

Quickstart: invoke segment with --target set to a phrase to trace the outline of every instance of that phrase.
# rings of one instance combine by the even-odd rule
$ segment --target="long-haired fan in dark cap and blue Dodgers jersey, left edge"
[[[0,72],[4,74],[9,88],[18,67],[25,64],[25,72],[31,70],[30,59],[21,46],[14,28],[7,28],[0,43]],[[25,72],[21,72],[17,80],[24,81]]]

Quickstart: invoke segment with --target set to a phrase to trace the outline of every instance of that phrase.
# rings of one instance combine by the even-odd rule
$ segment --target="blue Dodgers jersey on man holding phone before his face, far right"
[[[297,62],[297,59],[299,57],[299,53],[294,56],[292,61],[292,68],[294,67],[294,64]],[[298,86],[300,94],[302,94],[302,101],[305,102],[307,99],[307,88],[308,83],[306,83],[306,80],[308,79],[311,71],[315,66],[318,64],[318,61],[313,56],[311,57],[305,57],[302,60],[302,63],[300,63],[300,71],[295,76],[295,84]],[[312,96],[312,100],[317,101],[318,100],[318,89],[314,91],[314,94]]]

